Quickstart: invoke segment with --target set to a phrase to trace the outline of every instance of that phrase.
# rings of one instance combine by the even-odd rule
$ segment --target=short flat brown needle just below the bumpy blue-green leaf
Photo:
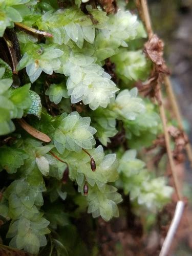
[[[45,133],[41,133],[38,130],[36,130],[33,126],[29,125],[23,118],[17,119],[17,122],[22,126],[22,128],[29,133],[31,136],[35,137],[38,140],[44,141],[44,142],[50,142],[51,139],[49,136]]]

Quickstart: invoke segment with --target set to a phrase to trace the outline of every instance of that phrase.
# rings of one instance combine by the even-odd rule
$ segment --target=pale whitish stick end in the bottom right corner
[[[185,204],[182,201],[177,202],[174,218],[173,218],[172,223],[170,224],[170,227],[168,229],[168,232],[167,232],[166,238],[163,242],[159,256],[168,255],[168,250],[170,248],[170,245],[172,244],[174,235],[179,226],[179,223],[180,223],[180,220],[181,220],[181,217],[183,214],[184,206],[185,206]]]

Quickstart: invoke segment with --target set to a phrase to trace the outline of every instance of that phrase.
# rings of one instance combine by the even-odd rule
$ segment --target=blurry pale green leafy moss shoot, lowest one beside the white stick
[[[122,187],[125,194],[130,193],[132,201],[156,211],[168,202],[173,189],[166,186],[164,177],[151,177],[144,166],[145,163],[136,158],[135,150],[126,151],[118,168]]]

